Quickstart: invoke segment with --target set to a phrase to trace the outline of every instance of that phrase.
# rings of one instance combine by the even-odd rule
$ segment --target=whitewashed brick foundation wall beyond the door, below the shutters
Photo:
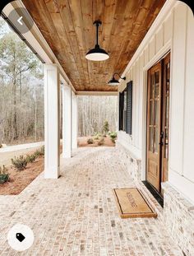
[[[119,142],[116,142],[116,147],[122,165],[126,167],[126,170],[132,175],[133,179],[136,181],[141,180],[141,160],[136,160],[136,158],[132,157],[130,152]]]

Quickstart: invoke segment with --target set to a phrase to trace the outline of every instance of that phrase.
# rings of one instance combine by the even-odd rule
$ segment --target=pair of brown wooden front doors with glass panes
[[[168,179],[170,55],[148,71],[146,180],[161,193]]]

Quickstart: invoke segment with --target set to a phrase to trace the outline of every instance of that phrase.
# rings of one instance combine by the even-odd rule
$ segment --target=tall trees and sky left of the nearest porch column
[[[0,144],[43,140],[43,65],[2,19],[0,31]]]

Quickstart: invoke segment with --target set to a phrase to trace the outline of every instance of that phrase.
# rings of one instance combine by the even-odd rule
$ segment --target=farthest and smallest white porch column
[[[72,92],[72,149],[77,148],[77,95]]]

